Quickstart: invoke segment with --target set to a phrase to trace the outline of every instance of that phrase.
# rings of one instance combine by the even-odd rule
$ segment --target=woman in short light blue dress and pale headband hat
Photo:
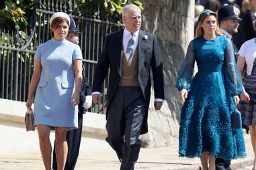
[[[50,129],[55,129],[58,169],[67,159],[67,131],[78,124],[79,91],[82,80],[82,53],[67,39],[70,17],[54,13],[50,17],[53,38],[40,45],[34,56],[34,72],[26,106],[31,108],[34,96],[34,125],[38,129],[40,150],[45,169],[51,169]]]

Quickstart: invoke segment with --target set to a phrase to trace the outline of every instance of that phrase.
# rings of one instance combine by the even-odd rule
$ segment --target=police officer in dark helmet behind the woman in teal
[[[220,25],[220,31],[228,37],[232,41],[232,35],[238,32],[239,28],[239,21],[241,20],[239,18],[239,9],[237,7],[234,7],[234,5],[224,5],[218,9],[218,23]],[[232,42],[232,46],[234,49],[234,57],[238,57],[239,50]],[[230,168],[230,160],[224,160],[221,158],[216,158],[215,164],[216,164],[216,170],[224,170]]]

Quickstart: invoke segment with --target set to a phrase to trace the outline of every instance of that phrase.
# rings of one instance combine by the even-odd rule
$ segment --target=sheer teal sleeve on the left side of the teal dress
[[[192,80],[194,78],[194,65],[195,65],[195,52],[193,47],[193,41],[190,41],[187,48],[187,54],[185,60],[179,70],[179,75],[176,82],[176,87],[180,90],[185,88],[191,90]]]

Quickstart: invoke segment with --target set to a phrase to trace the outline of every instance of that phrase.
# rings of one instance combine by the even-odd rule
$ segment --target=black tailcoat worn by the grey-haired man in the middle
[[[105,46],[99,58],[93,79],[93,92],[101,92],[101,86],[110,67],[108,84],[108,108],[117,92],[122,72],[123,31],[111,33],[106,37]],[[141,134],[147,133],[148,106],[151,97],[151,70],[153,73],[155,98],[165,98],[163,87],[163,63],[157,38],[144,31],[138,35],[138,82],[146,101],[146,113]]]

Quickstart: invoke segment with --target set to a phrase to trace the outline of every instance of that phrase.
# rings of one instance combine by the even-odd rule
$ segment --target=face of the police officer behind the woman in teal
[[[220,25],[221,29],[224,29],[231,35],[238,32],[239,20],[238,19],[226,19],[222,21]]]

